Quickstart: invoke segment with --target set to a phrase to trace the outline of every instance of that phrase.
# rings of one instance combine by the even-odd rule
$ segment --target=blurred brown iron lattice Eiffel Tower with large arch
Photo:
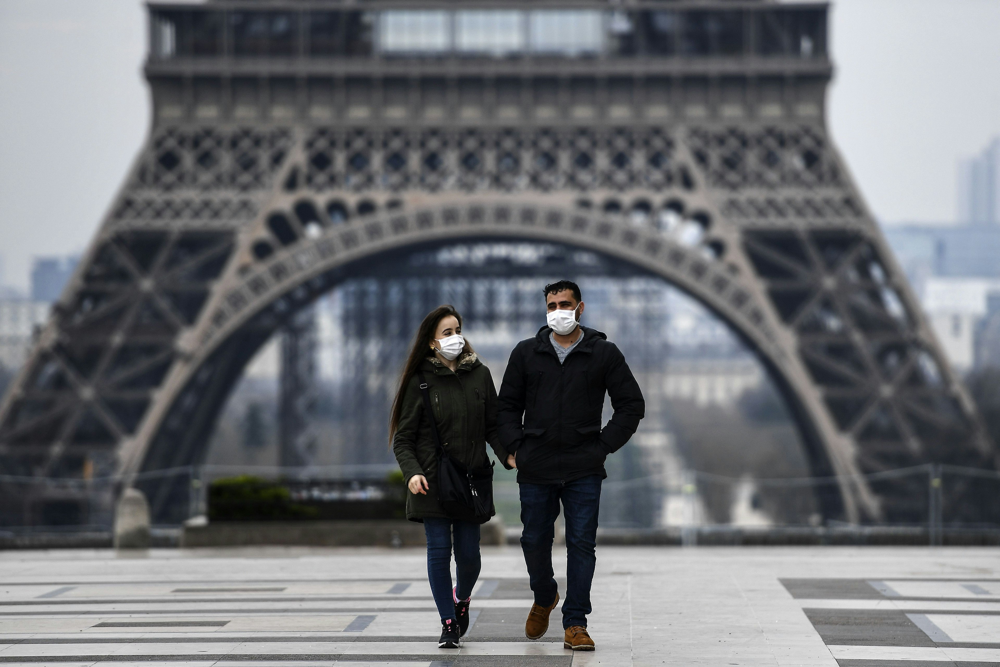
[[[926,481],[866,473],[994,467],[827,131],[826,4],[148,11],[152,128],[0,408],[3,474],[197,464],[295,313],[393,252],[477,239],[598,251],[704,303],[773,376],[813,474],[842,476],[827,517],[923,520]],[[184,516],[185,484],[141,482],[155,520]],[[49,499],[11,502],[31,522]]]

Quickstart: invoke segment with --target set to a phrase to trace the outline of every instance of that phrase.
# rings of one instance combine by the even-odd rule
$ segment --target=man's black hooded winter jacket
[[[497,426],[501,446],[516,454],[518,482],[607,477],[605,457],[628,442],[645,414],[646,402],[621,351],[600,331],[580,328],[583,340],[562,365],[547,326],[510,354]],[[602,430],[605,391],[614,414]]]

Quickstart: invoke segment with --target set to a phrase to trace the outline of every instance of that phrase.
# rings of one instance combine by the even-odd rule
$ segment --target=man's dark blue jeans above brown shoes
[[[528,566],[535,604],[547,607],[558,587],[552,573],[552,542],[562,501],[566,516],[566,599],[563,628],[587,627],[590,584],[597,556],[597,514],[601,506],[600,475],[566,484],[521,484],[521,549]]]

